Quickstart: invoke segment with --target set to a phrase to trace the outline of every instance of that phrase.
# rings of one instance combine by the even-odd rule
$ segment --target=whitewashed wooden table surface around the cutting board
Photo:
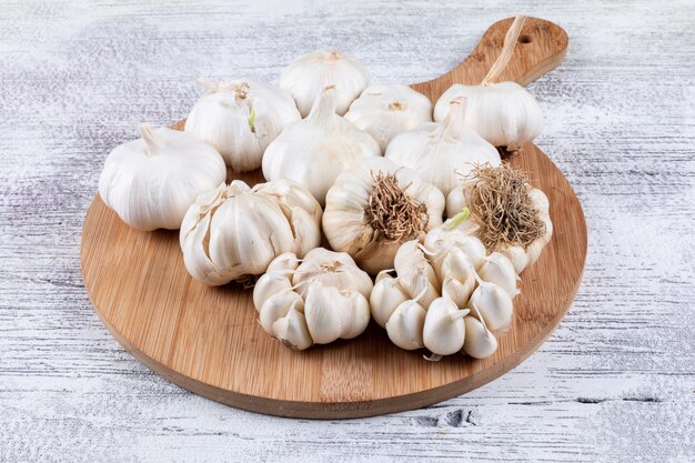
[[[694,461],[692,0],[1,3],[0,462]],[[373,81],[430,79],[517,12],[570,34],[531,91],[590,229],[576,302],[528,361],[425,410],[319,422],[190,394],[111,339],[80,230],[139,122],[184,117],[199,76],[275,80],[318,48],[356,53]]]

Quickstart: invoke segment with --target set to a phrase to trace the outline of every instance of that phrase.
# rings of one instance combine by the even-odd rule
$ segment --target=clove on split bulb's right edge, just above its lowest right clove
[[[503,334],[512,326],[514,304],[510,294],[494,283],[481,281],[466,304],[471,315],[480,316],[493,332]]]

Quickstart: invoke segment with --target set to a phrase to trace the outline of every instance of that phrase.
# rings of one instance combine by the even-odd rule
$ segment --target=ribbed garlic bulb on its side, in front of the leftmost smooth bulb
[[[191,204],[180,232],[187,270],[211,285],[259,275],[275,256],[302,256],[320,242],[321,207],[285,179],[220,184]]]

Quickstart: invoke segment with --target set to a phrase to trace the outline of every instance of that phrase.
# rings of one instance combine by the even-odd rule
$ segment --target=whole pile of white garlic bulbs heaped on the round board
[[[403,349],[486,358],[512,325],[518,273],[552,235],[540,190],[528,194],[545,232],[526,248],[488,253],[462,212],[466,174],[542,130],[525,89],[494,83],[523,21],[483,82],[452,85],[434,113],[427,97],[370,84],[334,50],[299,58],[279,87],[201,78],[184,131],[142,124],[109,154],[100,195],[135,229],[180,229],[185,268],[204,284],[261,275],[260,323],[291,348],[355,338],[373,316]],[[261,168],[268,182],[228,184],[225,164]],[[322,232],[335,251],[320,248]]]

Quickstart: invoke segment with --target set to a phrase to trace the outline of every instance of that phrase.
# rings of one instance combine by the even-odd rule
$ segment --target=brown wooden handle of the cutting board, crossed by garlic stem
[[[447,73],[411,85],[419,92],[431,94],[432,102],[454,83],[481,83],[487,70],[500,56],[504,36],[514,18],[495,22],[485,31],[473,52]],[[514,54],[497,81],[513,80],[522,85],[533,82],[555,69],[567,52],[567,33],[560,26],[540,18],[527,17],[514,48]]]

